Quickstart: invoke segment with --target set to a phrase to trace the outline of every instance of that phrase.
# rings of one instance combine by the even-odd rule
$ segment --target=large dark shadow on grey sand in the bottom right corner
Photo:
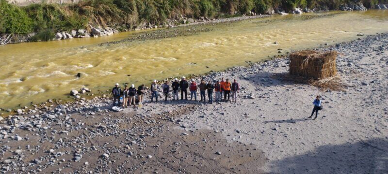
[[[388,174],[388,139],[323,145],[315,151],[275,161],[272,171],[279,174]]]

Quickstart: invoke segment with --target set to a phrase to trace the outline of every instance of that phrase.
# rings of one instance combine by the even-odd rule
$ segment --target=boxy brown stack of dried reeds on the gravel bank
[[[290,74],[323,79],[337,75],[336,51],[318,52],[304,50],[291,53]]]

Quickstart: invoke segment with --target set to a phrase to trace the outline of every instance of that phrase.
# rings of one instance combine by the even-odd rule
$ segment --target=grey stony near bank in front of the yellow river
[[[237,79],[237,103],[148,103],[147,94],[142,108],[113,112],[110,96],[88,93],[20,109],[1,120],[0,170],[387,173],[388,34],[319,49],[341,53],[345,91],[292,81],[288,58],[276,58],[194,77]],[[306,119],[316,95],[324,109]]]

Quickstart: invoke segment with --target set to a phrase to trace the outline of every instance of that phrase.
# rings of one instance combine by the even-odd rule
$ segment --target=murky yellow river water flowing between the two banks
[[[8,44],[0,46],[0,107],[68,99],[71,89],[83,86],[97,91],[116,82],[148,85],[152,79],[220,71],[268,58],[278,54],[278,48],[286,52],[319,47],[356,39],[358,33],[376,32],[388,32],[388,11],[339,13],[308,20],[299,15],[277,15],[219,25],[192,36],[104,46],[98,43],[127,38],[133,32]]]

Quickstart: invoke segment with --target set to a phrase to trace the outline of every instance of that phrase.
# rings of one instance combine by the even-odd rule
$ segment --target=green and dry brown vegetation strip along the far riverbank
[[[25,7],[0,0],[0,33],[27,34],[49,40],[54,32],[89,29],[90,26],[131,28],[140,22],[162,24],[181,15],[192,18],[264,14],[275,8],[338,9],[350,0],[82,0],[76,4],[39,3]],[[380,0],[387,2],[387,0]],[[362,0],[372,7],[379,0]]]

